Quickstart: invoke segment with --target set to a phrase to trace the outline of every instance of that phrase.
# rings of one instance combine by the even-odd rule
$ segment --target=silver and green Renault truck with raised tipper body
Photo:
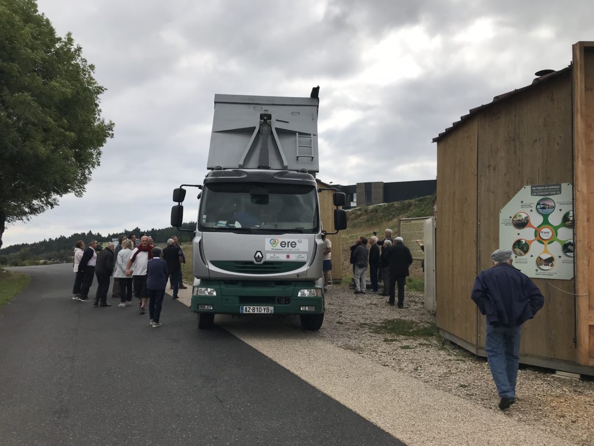
[[[318,98],[215,95],[202,184],[173,191],[171,225],[182,230],[186,187],[197,187],[190,309],[198,328],[215,315],[298,315],[324,321],[322,234],[346,229],[344,193],[318,187]],[[318,194],[333,191],[334,232]]]

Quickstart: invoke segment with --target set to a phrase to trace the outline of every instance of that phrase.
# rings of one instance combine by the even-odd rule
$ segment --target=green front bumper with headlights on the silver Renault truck
[[[194,313],[240,315],[241,307],[273,307],[274,315],[320,315],[324,313],[324,297],[298,297],[301,289],[317,289],[314,282],[242,282],[201,281],[200,287],[212,288],[216,296],[195,294],[192,290],[190,310]],[[200,306],[200,307],[199,307]],[[212,309],[204,309],[211,306]],[[308,307],[308,310],[302,310]],[[311,307],[314,307],[312,310]]]

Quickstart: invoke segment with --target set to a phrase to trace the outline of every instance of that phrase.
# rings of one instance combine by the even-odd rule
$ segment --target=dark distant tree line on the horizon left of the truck
[[[194,231],[196,223],[184,223],[182,228]],[[71,262],[74,253],[74,244],[77,240],[83,240],[84,243],[89,243],[90,240],[97,240],[105,244],[122,234],[136,234],[137,239],[140,238],[141,234],[150,235],[153,237],[155,243],[166,243],[167,239],[172,235],[177,235],[180,243],[191,241],[194,238],[193,233],[178,231],[173,227],[163,229],[151,228],[150,230],[141,230],[140,228],[125,229],[120,233],[107,235],[93,233],[93,231],[72,234],[69,237],[61,235],[57,238],[49,238],[48,240],[37,241],[36,243],[21,243],[0,249],[0,266],[29,266],[40,265],[42,263]]]

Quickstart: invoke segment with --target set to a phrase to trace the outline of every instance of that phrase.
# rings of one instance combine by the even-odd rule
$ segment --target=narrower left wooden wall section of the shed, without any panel
[[[476,345],[476,135],[468,118],[437,146],[437,326]]]

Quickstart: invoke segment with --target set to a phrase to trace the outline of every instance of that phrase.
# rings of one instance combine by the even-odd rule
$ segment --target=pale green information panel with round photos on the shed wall
[[[524,186],[501,209],[499,245],[528,277],[573,278],[573,187]]]

